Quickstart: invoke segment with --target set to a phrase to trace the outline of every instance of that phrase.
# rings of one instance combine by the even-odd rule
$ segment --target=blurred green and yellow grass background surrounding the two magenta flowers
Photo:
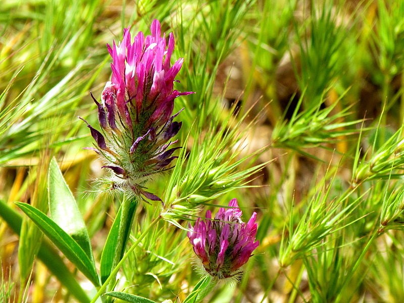
[[[177,89],[196,92],[176,101],[176,109],[185,108],[182,142],[189,132],[191,149],[236,105],[236,121],[251,112],[233,127],[256,118],[241,155],[266,146],[249,165],[276,160],[250,177],[258,187],[214,200],[237,197],[245,218],[257,211],[261,245],[241,283],[219,285],[207,301],[400,302],[400,1],[4,0],[0,199],[46,212],[46,167],[56,156],[99,260],[118,199],[92,182],[104,172],[82,149],[91,137],[77,116],[95,124],[89,91],[99,98],[110,77],[106,43],[128,26],[148,33],[155,18],[174,32],[175,58],[185,58]],[[150,187],[163,196],[169,178]],[[158,212],[139,208],[133,237]],[[25,219],[20,237],[0,219],[0,300],[74,301],[34,261],[40,239]],[[191,250],[182,230],[162,223],[136,248],[120,286],[156,301],[183,300],[199,277]]]

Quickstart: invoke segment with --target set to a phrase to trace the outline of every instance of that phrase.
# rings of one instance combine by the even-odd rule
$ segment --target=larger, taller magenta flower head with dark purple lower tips
[[[152,200],[159,198],[144,190],[145,181],[153,174],[170,168],[178,148],[170,148],[172,138],[181,128],[173,121],[174,99],[193,92],[174,89],[176,75],[183,59],[171,65],[174,36],[168,41],[161,34],[158,20],[151,23],[151,35],[139,32],[132,42],[129,28],[123,40],[107,44],[112,57],[112,77],[102,92],[98,122],[102,132],[92,126],[94,149],[111,171],[114,188]]]

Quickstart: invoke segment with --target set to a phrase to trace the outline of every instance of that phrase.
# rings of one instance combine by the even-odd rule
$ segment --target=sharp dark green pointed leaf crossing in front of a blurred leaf
[[[40,230],[63,252],[77,269],[80,270],[93,284],[99,285],[95,265],[77,242],[34,207],[26,203],[16,202],[16,205],[40,228]]]

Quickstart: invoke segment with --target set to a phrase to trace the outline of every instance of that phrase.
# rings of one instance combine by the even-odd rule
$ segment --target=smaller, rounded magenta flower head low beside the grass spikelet
[[[229,208],[220,208],[215,219],[208,211],[206,220],[198,218],[193,227],[189,225],[187,235],[193,250],[213,277],[238,277],[240,267],[259,245],[256,241],[257,213],[254,212],[247,223],[241,221],[241,215],[237,199],[232,199]]]

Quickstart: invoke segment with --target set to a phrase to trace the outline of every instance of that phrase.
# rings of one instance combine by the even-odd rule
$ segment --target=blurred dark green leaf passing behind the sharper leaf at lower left
[[[22,218],[11,209],[3,200],[0,200],[0,216],[7,222],[11,229],[20,234]],[[57,251],[51,247],[47,241],[42,241],[37,257],[47,267],[47,269],[55,275],[55,277],[66,287],[69,293],[75,296],[79,302],[89,302],[87,294],[81,288],[76,278],[72,275]]]

